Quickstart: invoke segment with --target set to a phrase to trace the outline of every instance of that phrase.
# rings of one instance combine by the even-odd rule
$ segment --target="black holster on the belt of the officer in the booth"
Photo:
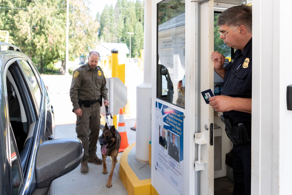
[[[229,117],[221,115],[220,119],[225,124],[225,132],[233,144],[239,145],[251,141],[251,125],[248,122],[233,125]]]

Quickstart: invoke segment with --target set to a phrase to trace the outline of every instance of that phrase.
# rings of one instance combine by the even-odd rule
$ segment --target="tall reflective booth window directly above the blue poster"
[[[157,11],[157,98],[185,108],[185,1],[161,1]]]

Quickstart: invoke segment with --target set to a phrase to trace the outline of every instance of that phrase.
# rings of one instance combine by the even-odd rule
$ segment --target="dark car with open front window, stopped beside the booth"
[[[54,110],[31,59],[0,42],[0,194],[52,194],[81,163],[77,138],[54,139]]]

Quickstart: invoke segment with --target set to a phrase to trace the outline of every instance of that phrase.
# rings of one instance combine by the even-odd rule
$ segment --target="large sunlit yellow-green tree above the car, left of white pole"
[[[31,58],[37,59],[41,72],[44,67],[55,59],[60,58],[62,49],[58,42],[61,26],[58,25],[58,10],[50,9],[56,6],[56,1],[38,1],[38,4],[29,4],[26,9],[20,9],[13,16],[14,42]]]

